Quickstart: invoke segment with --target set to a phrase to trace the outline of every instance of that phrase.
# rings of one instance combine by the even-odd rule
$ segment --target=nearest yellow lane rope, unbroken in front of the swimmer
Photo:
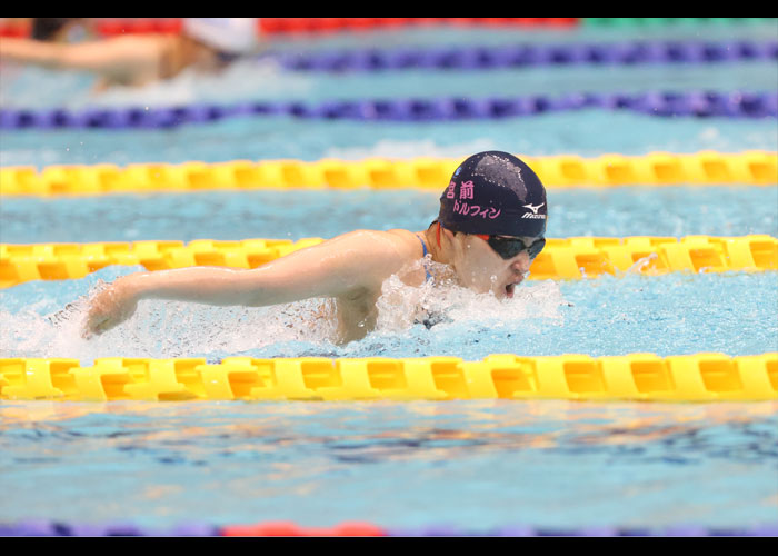
[[[778,399],[778,353],[729,357],[631,354],[481,361],[428,358],[229,357],[0,359],[0,399],[449,400],[572,399],[720,401]]]

